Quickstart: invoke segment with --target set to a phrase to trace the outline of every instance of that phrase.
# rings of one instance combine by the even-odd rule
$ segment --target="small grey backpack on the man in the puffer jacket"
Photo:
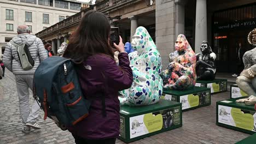
[[[24,70],[32,69],[34,67],[34,59],[30,55],[30,50],[28,49],[28,45],[24,43],[18,45],[11,41],[10,43],[15,47],[17,47],[18,57],[19,57],[22,69]]]

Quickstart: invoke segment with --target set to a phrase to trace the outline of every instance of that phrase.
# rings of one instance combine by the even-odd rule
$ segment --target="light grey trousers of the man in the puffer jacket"
[[[30,112],[30,91],[28,91],[28,88],[31,90],[33,88],[33,76],[33,74],[15,75],[16,87],[19,96],[20,115],[23,124],[27,122],[36,122],[36,118],[38,117],[40,111],[37,101],[33,99],[32,110]]]

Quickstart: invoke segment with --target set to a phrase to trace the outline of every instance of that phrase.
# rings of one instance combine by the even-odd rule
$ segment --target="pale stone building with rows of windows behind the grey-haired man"
[[[78,13],[80,8],[80,3],[61,0],[1,0],[0,56],[19,25],[27,25],[36,34]]]

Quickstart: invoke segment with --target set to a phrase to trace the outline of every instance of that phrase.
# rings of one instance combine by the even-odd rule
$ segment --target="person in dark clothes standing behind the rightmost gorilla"
[[[245,68],[245,65],[243,64],[243,55],[245,54],[246,49],[245,47],[241,46],[241,43],[238,43],[238,50],[237,50],[237,58],[236,58],[236,72],[232,74],[232,76],[237,77],[240,75],[240,73],[243,71],[243,68]]]

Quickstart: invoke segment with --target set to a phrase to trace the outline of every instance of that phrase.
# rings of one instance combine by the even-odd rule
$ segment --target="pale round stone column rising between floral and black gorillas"
[[[201,52],[203,40],[207,40],[207,0],[196,0],[195,53]]]

